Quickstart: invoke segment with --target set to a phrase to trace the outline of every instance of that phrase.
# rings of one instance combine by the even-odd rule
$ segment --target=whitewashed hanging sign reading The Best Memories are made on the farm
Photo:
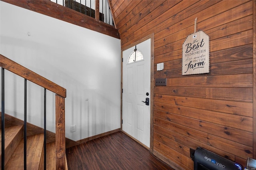
[[[210,72],[209,36],[203,31],[190,34],[182,45],[182,75]]]

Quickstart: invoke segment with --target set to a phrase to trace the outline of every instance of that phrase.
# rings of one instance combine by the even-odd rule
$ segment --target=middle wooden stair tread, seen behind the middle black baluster
[[[44,145],[44,134],[35,134],[27,137],[27,169],[36,170],[39,168],[40,158]],[[12,157],[7,162],[5,169],[24,169],[24,140],[21,140]]]

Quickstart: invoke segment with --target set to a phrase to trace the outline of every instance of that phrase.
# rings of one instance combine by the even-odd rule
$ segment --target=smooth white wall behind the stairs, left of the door
[[[119,39],[0,1],[0,53],[67,89],[67,138],[120,128]],[[5,73],[6,113],[23,119],[24,80]],[[47,91],[47,128],[52,132],[54,99]],[[43,127],[43,89],[31,82],[28,122]],[[76,132],[70,132],[71,125]]]

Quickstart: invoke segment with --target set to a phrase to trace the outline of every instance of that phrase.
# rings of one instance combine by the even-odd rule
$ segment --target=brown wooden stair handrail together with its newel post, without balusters
[[[0,54],[0,67],[55,93],[56,170],[67,170],[65,140],[66,89]]]

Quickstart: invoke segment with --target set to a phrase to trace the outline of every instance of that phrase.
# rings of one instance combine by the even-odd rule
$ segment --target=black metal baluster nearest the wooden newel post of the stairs
[[[46,170],[46,88],[44,88],[44,170]]]

